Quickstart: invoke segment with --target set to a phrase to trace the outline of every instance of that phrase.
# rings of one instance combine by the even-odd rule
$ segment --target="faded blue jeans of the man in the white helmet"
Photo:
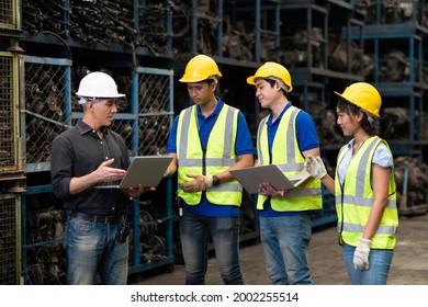
[[[128,241],[117,242],[120,223],[103,224],[69,217],[63,247],[67,255],[67,284],[125,285]]]

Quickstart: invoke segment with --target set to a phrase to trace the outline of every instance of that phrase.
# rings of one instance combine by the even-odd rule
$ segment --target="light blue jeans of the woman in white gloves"
[[[342,254],[345,265],[352,285],[386,285],[390,273],[393,250],[370,250],[369,270],[359,271],[353,269],[354,247],[343,245]]]

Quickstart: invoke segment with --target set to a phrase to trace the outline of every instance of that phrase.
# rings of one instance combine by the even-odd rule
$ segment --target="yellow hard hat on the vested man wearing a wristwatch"
[[[217,65],[211,57],[198,55],[189,60],[184,75],[179,81],[192,83],[210,79],[211,77],[222,77]]]

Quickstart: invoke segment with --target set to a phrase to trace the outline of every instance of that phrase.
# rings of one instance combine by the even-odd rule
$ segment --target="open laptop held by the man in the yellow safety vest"
[[[275,164],[257,166],[229,172],[250,194],[258,193],[259,185],[263,182],[269,182],[277,190],[291,190],[311,177],[308,172],[302,170],[299,174],[286,178]]]

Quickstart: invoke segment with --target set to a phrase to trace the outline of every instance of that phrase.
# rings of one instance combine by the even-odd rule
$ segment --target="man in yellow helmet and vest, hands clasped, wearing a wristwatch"
[[[180,82],[194,105],[174,118],[167,173],[178,168],[181,247],[185,284],[204,284],[211,234],[225,284],[244,284],[238,259],[241,186],[230,169],[254,164],[254,145],[244,114],[215,95],[222,73],[209,56],[187,65]]]

